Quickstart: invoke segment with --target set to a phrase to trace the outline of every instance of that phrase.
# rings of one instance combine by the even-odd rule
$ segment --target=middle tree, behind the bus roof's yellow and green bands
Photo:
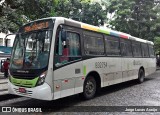
[[[60,0],[55,8],[57,16],[72,18],[95,26],[103,25],[106,7],[90,0]]]

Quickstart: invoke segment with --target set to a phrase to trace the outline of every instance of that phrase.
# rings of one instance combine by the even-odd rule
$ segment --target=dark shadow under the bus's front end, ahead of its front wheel
[[[66,109],[82,102],[79,95],[68,96],[62,99],[44,101],[37,99],[26,99],[19,102],[12,103],[11,106],[20,108],[42,108],[43,112],[58,112],[58,111],[68,111]]]

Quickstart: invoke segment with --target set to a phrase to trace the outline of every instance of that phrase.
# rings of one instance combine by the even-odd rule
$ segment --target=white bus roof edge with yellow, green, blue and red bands
[[[48,18],[38,19],[36,21],[45,20],[45,19],[64,20],[65,24],[72,25],[74,27],[79,27],[79,28],[83,28],[83,29],[86,29],[86,30],[100,32],[100,33],[115,36],[115,37],[120,37],[120,38],[124,38],[124,39],[131,39],[131,40],[134,40],[134,41],[139,41],[139,42],[143,42],[143,43],[153,45],[153,42],[151,42],[151,41],[140,39],[140,38],[131,36],[130,34],[127,34],[127,33],[119,32],[119,31],[112,30],[112,29],[107,29],[107,28],[100,28],[100,27],[97,27],[97,26],[93,26],[93,25],[90,25],[90,24],[86,24],[86,23],[83,23],[83,22],[75,21],[73,19],[68,19],[68,18],[64,18],[64,17],[48,17]]]

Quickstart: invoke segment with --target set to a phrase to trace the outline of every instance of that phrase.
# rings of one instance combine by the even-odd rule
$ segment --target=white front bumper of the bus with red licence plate
[[[8,92],[10,94],[26,96],[40,100],[52,100],[53,97],[51,87],[47,83],[34,88],[26,88],[15,86],[10,81],[8,81]]]

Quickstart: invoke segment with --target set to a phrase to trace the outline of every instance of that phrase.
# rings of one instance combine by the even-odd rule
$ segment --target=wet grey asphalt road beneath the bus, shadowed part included
[[[47,95],[47,94],[46,94]],[[160,106],[160,70],[156,71],[154,74],[147,76],[142,84],[138,84],[135,81],[129,81],[121,83],[118,85],[109,86],[103,88],[94,99],[91,100],[81,100],[78,95],[66,97],[63,99],[55,101],[42,101],[36,99],[30,99],[26,97],[19,97],[15,99],[8,99],[0,101],[0,106],[16,106],[16,107],[40,107],[47,108],[46,114],[53,114],[53,110],[58,112],[56,114],[99,114],[99,113],[88,113],[86,111],[97,111],[100,114],[106,114],[105,109],[110,111],[107,107],[113,107],[112,113],[109,114],[140,114],[139,112],[118,112],[118,107],[120,109],[134,108],[143,109],[145,107],[158,107]],[[103,108],[104,107],[104,108]],[[115,108],[114,108],[115,107]],[[88,109],[88,110],[85,110]],[[158,107],[160,110],[160,107]],[[102,110],[101,110],[102,109]],[[63,111],[63,112],[62,112]],[[65,111],[65,112],[64,112]],[[69,111],[69,112],[66,112]],[[80,113],[77,113],[80,112]],[[103,111],[103,112],[102,112]],[[156,110],[155,110],[156,111]],[[62,112],[62,113],[60,113]],[[157,114],[158,112],[146,112],[143,111],[141,114]]]

